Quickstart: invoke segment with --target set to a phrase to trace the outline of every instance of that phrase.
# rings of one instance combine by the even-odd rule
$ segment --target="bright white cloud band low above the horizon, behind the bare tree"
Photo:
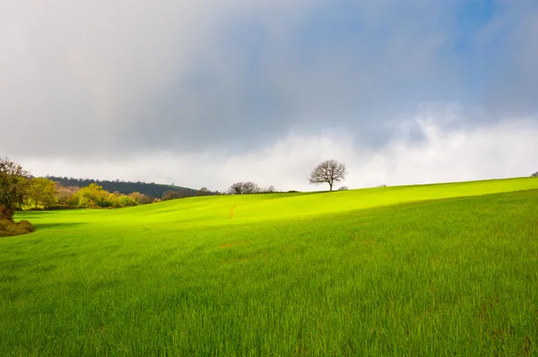
[[[21,157],[21,162],[33,174],[176,183],[221,191],[239,181],[274,185],[284,191],[325,190],[323,185],[309,185],[308,174],[328,158],[348,166],[342,184],[351,188],[527,176],[538,170],[534,119],[507,118],[474,129],[443,129],[439,123],[454,120],[454,108],[448,105],[413,115],[406,123],[419,126],[422,140],[410,139],[402,125],[402,135],[379,149],[361,147],[349,132],[337,130],[290,133],[265,148],[235,155],[161,153],[128,161],[84,163],[63,159],[41,163]]]

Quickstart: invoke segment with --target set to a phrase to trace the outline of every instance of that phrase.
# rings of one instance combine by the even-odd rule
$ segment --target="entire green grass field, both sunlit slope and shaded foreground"
[[[538,355],[538,179],[22,212],[0,355]]]

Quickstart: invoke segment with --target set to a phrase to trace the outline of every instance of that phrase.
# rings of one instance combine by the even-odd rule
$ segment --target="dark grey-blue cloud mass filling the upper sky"
[[[454,128],[535,113],[535,6],[475,3],[3,4],[0,153],[240,153],[334,127],[378,147],[421,103],[471,108]]]

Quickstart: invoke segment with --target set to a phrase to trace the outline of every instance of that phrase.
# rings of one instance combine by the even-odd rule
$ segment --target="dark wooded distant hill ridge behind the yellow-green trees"
[[[59,177],[59,176],[47,176],[49,180],[56,181],[57,183],[62,184],[63,186],[79,186],[84,187],[88,186],[90,183],[97,183],[103,187],[104,190],[109,192],[118,191],[120,193],[129,194],[134,191],[143,193],[145,195],[152,196],[156,199],[161,199],[162,194],[166,191],[173,190],[181,192],[182,197],[193,197],[196,194],[195,189],[190,189],[188,187],[175,186],[170,184],[161,184],[161,183],[131,183],[125,181],[108,181],[108,180],[92,180],[92,179],[81,179],[73,177]]]

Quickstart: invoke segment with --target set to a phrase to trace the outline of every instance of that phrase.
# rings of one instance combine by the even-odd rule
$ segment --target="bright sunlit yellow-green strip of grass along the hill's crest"
[[[516,178],[465,183],[379,187],[373,189],[207,196],[170,200],[115,210],[72,210],[46,214],[22,212],[17,217],[41,223],[66,220],[99,225],[230,225],[266,220],[299,219],[421,200],[538,189],[538,179]]]

